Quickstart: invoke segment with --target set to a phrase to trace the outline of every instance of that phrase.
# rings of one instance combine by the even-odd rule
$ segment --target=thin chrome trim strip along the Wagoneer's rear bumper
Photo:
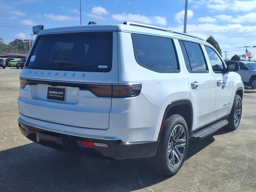
[[[67,135],[72,135],[72,136],[76,136],[76,137],[82,137],[82,138],[90,138],[90,139],[101,139],[101,140],[120,140],[120,138],[118,137],[104,137],[104,136],[92,136],[92,135],[84,135],[84,134],[70,134],[70,133],[66,133],[66,132],[59,132],[56,130],[50,130],[44,127],[40,127],[40,126],[36,126],[34,124],[31,124],[25,120],[23,120],[22,118],[18,118],[18,121],[22,122],[23,124],[26,124],[28,126],[32,126],[38,129],[43,129],[43,130],[47,130],[47,131],[52,131],[52,132],[56,132],[56,133],[61,133],[61,134],[67,134]],[[40,120],[42,121],[42,120]],[[55,124],[55,123],[54,123]]]

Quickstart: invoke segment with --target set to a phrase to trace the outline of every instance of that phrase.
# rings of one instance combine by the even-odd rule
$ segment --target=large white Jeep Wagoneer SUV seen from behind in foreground
[[[178,172],[189,139],[236,130],[244,85],[207,42],[125,22],[42,30],[20,73],[20,131],[40,144]]]

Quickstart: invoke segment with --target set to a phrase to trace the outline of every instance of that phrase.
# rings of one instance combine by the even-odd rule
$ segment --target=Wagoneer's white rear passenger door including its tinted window
[[[202,47],[198,43],[179,40],[193,107],[193,130],[212,121],[215,105],[215,80],[209,72]]]

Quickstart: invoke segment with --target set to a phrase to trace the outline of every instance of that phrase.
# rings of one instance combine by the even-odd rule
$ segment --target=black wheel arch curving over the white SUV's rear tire
[[[158,134],[158,140],[160,140],[161,133],[164,128],[164,124],[167,118],[169,118],[172,114],[179,114],[181,115],[187,125],[188,131],[190,132],[193,125],[193,106],[190,100],[177,100],[168,104],[164,111],[164,116],[162,118],[161,128]]]

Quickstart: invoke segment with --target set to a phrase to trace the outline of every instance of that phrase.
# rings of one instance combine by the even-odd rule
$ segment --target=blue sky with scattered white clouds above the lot
[[[183,32],[185,0],[85,1],[82,25],[138,22]],[[80,25],[79,0],[0,0],[0,37],[31,39],[32,26],[44,28]],[[206,40],[212,35],[227,58],[256,46],[256,0],[188,0],[187,33]],[[35,36],[33,37],[33,39]],[[256,48],[248,48],[256,59]],[[222,53],[225,58],[225,53]]]

